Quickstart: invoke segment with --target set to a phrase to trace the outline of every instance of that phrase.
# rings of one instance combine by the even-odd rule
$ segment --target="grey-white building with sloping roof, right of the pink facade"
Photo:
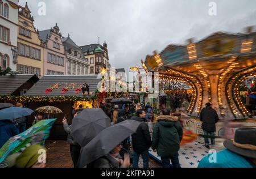
[[[69,37],[62,39],[65,48],[65,74],[66,75],[86,75],[88,74],[89,60],[84,58],[82,50]]]

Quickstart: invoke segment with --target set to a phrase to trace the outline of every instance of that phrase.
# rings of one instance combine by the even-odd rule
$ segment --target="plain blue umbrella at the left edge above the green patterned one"
[[[30,116],[34,110],[29,108],[10,107],[0,110],[0,120],[13,120],[23,116]]]

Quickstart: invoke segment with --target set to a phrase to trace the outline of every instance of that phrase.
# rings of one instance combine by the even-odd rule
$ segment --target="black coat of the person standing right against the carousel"
[[[200,121],[202,121],[202,129],[208,132],[215,132],[216,125],[218,122],[218,114],[212,107],[207,106],[201,110]]]

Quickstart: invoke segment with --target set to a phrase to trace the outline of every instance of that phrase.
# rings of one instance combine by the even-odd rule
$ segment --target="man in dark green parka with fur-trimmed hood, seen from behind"
[[[152,150],[160,155],[164,168],[170,168],[170,160],[174,168],[180,168],[179,154],[180,142],[182,140],[183,130],[178,121],[179,118],[170,116],[170,109],[165,109],[163,116],[156,118]]]

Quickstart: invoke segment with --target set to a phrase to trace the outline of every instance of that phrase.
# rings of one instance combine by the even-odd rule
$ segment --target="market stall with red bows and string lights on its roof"
[[[51,139],[65,139],[65,133],[61,120],[64,115],[68,123],[72,122],[73,108],[82,104],[82,108],[93,108],[94,103],[98,103],[97,84],[100,81],[97,75],[46,75],[39,82],[30,88],[23,96],[5,96],[7,101],[16,101],[35,110],[40,106],[56,106],[63,113],[52,114],[57,118],[51,130]],[[88,93],[83,93],[84,83],[89,85]],[[34,117],[30,117],[27,125],[32,124]]]

